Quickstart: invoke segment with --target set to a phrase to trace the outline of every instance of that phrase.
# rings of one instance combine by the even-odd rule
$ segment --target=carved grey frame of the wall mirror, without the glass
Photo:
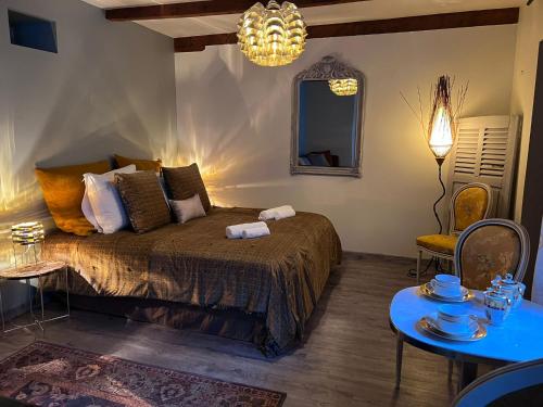
[[[355,160],[353,167],[317,167],[310,165],[299,165],[299,123],[300,123],[300,86],[304,80],[329,80],[329,79],[346,79],[356,78],[358,80],[358,115],[356,123],[356,140],[355,140]],[[310,174],[310,175],[331,175],[331,176],[350,176],[362,177],[362,140],[363,140],[363,122],[364,122],[364,91],[366,84],[362,72],[338,61],[332,55],[323,58],[310,68],[302,71],[294,77],[293,81],[293,99],[292,99],[292,145],[290,153],[290,174]]]

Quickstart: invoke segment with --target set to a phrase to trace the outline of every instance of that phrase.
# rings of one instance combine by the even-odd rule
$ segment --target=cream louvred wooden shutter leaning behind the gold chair
[[[469,182],[492,187],[492,216],[509,218],[519,139],[518,116],[462,118],[450,162],[447,191]]]

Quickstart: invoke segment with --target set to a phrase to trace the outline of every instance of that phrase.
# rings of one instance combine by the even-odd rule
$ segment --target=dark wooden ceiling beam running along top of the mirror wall
[[[307,27],[307,38],[349,37],[371,34],[425,31],[431,29],[517,24],[518,14],[519,9],[512,8],[419,15],[415,17],[372,20],[355,23],[314,25]],[[238,38],[236,33],[180,37],[175,39],[175,51],[203,51],[206,46],[220,46],[236,43],[237,41]]]

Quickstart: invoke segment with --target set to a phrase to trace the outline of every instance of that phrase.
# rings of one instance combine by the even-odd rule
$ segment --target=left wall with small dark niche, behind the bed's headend
[[[59,53],[10,43],[11,9],[56,22]],[[0,267],[8,228],[47,216],[35,164],[156,157],[175,136],[171,38],[76,0],[0,2]]]

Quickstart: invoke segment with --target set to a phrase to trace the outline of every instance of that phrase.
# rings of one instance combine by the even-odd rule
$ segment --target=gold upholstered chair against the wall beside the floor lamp
[[[452,262],[458,236],[471,224],[488,218],[491,208],[492,189],[487,183],[471,182],[456,190],[451,199],[449,234],[417,238],[417,284],[420,283],[422,253]]]

